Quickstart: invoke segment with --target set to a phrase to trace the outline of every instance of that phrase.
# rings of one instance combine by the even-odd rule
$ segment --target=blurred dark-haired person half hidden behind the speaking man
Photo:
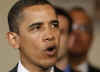
[[[61,71],[70,72],[67,58],[67,44],[68,36],[71,30],[72,19],[63,8],[56,7],[55,9],[60,28],[60,48],[58,50],[58,60],[56,67]]]

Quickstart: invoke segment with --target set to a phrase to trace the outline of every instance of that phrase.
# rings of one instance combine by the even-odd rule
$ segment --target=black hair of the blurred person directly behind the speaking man
[[[72,18],[70,17],[69,13],[64,8],[57,7],[57,6],[55,6],[55,11],[57,15],[65,16],[66,19],[68,19],[69,21],[68,33],[70,33],[72,31]]]

